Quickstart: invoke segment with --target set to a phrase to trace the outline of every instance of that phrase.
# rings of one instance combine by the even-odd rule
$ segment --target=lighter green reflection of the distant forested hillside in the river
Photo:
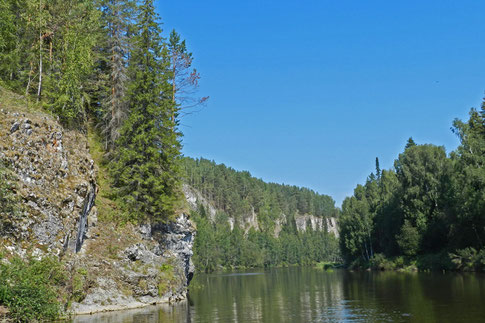
[[[201,277],[191,292],[194,322],[309,322],[333,312],[343,296],[340,272],[273,269],[266,275]],[[219,291],[217,295],[213,291]],[[210,301],[209,301],[210,300]]]

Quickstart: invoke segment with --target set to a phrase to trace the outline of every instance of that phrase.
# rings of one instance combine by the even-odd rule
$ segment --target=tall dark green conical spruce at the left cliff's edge
[[[132,217],[164,220],[180,200],[180,141],[171,118],[170,61],[153,0],[138,10],[129,64],[130,115],[117,141],[112,174]]]

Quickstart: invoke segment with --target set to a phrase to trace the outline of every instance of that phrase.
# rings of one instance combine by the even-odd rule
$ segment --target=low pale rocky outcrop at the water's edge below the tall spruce
[[[95,281],[85,297],[72,305],[73,312],[86,314],[185,299],[194,275],[194,237],[194,226],[181,214],[173,222],[127,226],[114,236],[88,240],[86,251],[73,266],[95,268],[91,274]],[[113,239],[118,248],[111,255],[93,257]]]

